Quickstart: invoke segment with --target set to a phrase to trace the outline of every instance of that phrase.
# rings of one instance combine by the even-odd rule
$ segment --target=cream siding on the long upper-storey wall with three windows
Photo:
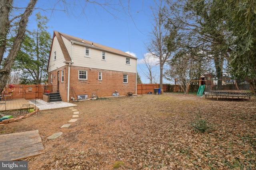
[[[73,61],[73,66],[136,73],[136,59],[130,58],[130,65],[128,65],[125,56],[106,51],[106,61],[104,61],[102,50],[93,48],[90,48],[90,58],[84,57],[84,46],[77,44],[73,45]]]

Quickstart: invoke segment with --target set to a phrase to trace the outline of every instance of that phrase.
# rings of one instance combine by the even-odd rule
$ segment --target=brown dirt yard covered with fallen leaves
[[[217,101],[164,93],[75,104],[79,117],[69,128],[60,128],[72,118],[69,108],[0,127],[1,134],[38,129],[45,154],[25,159],[29,170],[256,168],[254,97]],[[47,139],[56,132],[63,135]]]

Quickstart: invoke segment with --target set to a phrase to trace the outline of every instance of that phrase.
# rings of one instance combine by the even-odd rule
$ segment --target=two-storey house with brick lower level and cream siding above
[[[128,53],[54,31],[48,84],[64,102],[78,95],[90,98],[92,92],[98,97],[136,94],[136,65],[137,58]]]

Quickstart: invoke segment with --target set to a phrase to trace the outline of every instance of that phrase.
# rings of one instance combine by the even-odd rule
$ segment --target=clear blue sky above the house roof
[[[66,0],[67,2],[76,2],[78,0]],[[82,2],[84,0],[80,0]],[[41,15],[47,16],[48,32],[59,31],[75,37],[80,37],[89,41],[100,43],[108,47],[120,49],[124,52],[130,51],[138,58],[137,70],[143,83],[149,83],[149,80],[143,75],[144,68],[141,63],[143,55],[146,54],[145,43],[150,41],[150,31],[152,30],[152,10],[150,6],[155,6],[154,0],[107,0],[111,1],[110,6],[100,6],[95,3],[88,3],[81,6],[72,7],[73,10],[66,14],[63,6],[57,5],[56,10],[36,10],[30,17],[28,28],[35,27],[35,14],[40,11]],[[18,5],[26,5],[28,0],[14,0]],[[52,9],[54,0],[38,0],[37,8]],[[98,0],[104,3],[105,0]],[[84,13],[82,8],[84,7]],[[104,9],[106,8],[106,9]],[[121,9],[124,8],[124,9]],[[60,9],[60,10],[58,10]],[[159,71],[156,67],[155,74],[159,83]],[[168,83],[167,80],[163,80]]]

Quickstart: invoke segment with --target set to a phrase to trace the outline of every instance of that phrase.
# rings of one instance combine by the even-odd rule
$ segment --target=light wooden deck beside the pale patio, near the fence
[[[12,100],[0,100],[0,111],[34,108],[35,105],[29,104],[24,98]],[[36,107],[38,109],[38,107]]]

